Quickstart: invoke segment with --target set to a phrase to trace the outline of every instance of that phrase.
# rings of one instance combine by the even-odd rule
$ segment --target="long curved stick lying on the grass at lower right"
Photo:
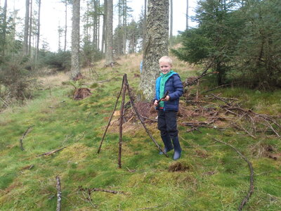
[[[207,134],[207,136],[209,136],[209,134]],[[211,137],[211,139],[214,139],[215,141],[217,141],[219,143],[223,143],[226,146],[230,146],[230,148],[233,148],[233,150],[236,153],[238,153],[240,155],[240,157],[248,163],[248,167],[249,167],[249,170],[250,170],[250,185],[249,185],[249,191],[247,193],[247,196],[245,196],[243,198],[242,202],[240,203],[240,206],[238,207],[238,210],[242,210],[244,205],[246,205],[247,201],[251,197],[251,194],[254,193],[254,169],[253,169],[253,165],[251,165],[251,162],[249,162],[249,160],[244,155],[242,155],[242,153],[240,153],[240,151],[238,151],[237,148],[235,148],[234,146],[230,145],[229,143],[220,141],[220,140],[218,140],[218,139],[216,139],[212,136],[209,136],[209,137]]]

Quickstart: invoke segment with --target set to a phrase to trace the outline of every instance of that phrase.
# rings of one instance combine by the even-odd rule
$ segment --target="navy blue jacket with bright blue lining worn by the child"
[[[156,79],[155,84],[155,100],[159,100],[160,96],[160,82],[162,76]],[[183,83],[181,82],[181,78],[176,72],[172,72],[169,76],[169,79],[166,80],[164,85],[164,93],[169,91],[170,99],[169,101],[164,101],[164,110],[175,110],[178,111],[178,103],[180,101],[180,96],[183,95]],[[159,109],[159,106],[156,107]]]

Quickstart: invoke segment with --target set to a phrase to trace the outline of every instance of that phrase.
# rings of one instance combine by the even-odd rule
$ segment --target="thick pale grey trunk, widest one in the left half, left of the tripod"
[[[71,79],[76,77],[79,72],[79,28],[80,28],[80,0],[73,0],[72,6],[72,40],[71,40]]]

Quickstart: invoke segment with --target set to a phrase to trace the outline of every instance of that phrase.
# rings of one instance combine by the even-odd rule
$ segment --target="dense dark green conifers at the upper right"
[[[281,1],[201,0],[185,30],[181,60],[211,64],[218,84],[237,82],[258,89],[281,87]]]

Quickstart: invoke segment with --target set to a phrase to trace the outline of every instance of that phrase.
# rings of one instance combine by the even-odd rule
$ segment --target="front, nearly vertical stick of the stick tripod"
[[[123,77],[123,81],[126,82],[127,75]],[[123,83],[122,87],[122,103],[120,108],[120,117],[119,117],[119,151],[118,151],[118,166],[121,169],[121,153],[122,153],[122,127],[123,127],[123,111],[125,103],[125,94],[126,94],[126,84]]]

